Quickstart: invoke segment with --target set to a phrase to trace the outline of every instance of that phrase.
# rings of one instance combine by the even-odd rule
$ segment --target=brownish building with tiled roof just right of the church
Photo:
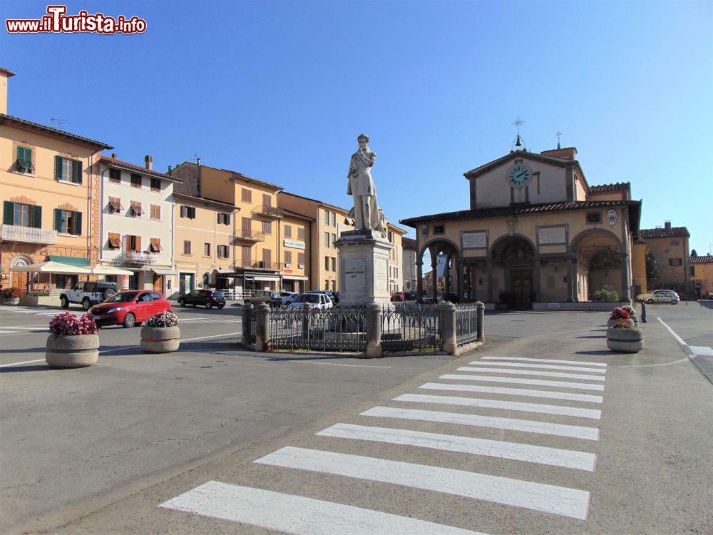
[[[685,227],[672,227],[665,221],[663,228],[642,228],[639,236],[646,250],[653,255],[658,275],[648,280],[649,290],[674,290],[679,294],[690,293],[689,284],[689,239]]]

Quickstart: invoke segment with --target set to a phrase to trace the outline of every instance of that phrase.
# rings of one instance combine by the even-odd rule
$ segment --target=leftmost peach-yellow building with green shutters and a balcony
[[[99,153],[113,148],[56,128],[7,115],[8,79],[0,68],[0,230],[2,285],[31,282],[68,287],[76,275],[33,275],[10,267],[56,260],[75,265],[98,260]]]

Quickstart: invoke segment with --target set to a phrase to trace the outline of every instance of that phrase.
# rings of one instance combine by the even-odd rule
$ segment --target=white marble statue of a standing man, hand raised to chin
[[[386,238],[386,220],[384,212],[376,201],[376,187],[371,177],[371,167],[376,162],[376,154],[369,149],[369,136],[359,134],[359,151],[352,154],[347,173],[347,194],[354,197],[354,228],[371,233],[372,230],[381,233]]]

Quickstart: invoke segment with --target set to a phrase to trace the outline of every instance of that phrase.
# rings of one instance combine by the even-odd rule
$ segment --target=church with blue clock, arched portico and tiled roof
[[[446,258],[441,290],[461,302],[543,309],[597,290],[630,301],[641,201],[630,183],[589,185],[576,155],[511,151],[464,173],[470,209],[401,220],[416,230],[419,298],[429,253],[434,272]]]

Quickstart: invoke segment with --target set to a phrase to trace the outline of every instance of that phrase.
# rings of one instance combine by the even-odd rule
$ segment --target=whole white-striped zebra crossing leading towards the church
[[[254,464],[316,477],[343,478],[344,484],[367,481],[394,485],[585,521],[590,506],[587,474],[596,468],[593,449],[600,436],[596,422],[602,416],[606,373],[607,365],[601,362],[482,357],[458,367],[454,373],[441,374],[437,381],[421,384],[418,392],[404,392],[391,403],[366,409],[355,417],[359,423],[337,422],[318,431],[317,447],[287,445],[256,459]],[[429,425],[448,432],[424,428]],[[497,439],[493,434],[498,435]],[[350,449],[357,453],[338,451],[344,449],[339,447],[344,442],[323,442],[332,439],[349,441],[354,444]],[[324,449],[324,444],[333,447]],[[402,453],[399,460],[382,458],[381,450],[378,455],[364,454],[358,444],[389,444],[401,448]],[[568,447],[561,447],[563,444]],[[383,457],[393,451],[384,450]],[[430,452],[434,457],[429,457],[429,462],[443,455],[452,463],[452,457],[447,455],[457,454],[473,456],[481,464],[464,469],[468,468],[466,464],[404,460],[417,457],[418,451]],[[540,470],[576,471],[573,480],[577,488],[517,479],[512,477],[512,467],[508,474],[493,473],[508,470],[509,462],[538,465],[543,467]],[[473,466],[483,470],[473,470]],[[412,515],[399,516],[225,481],[207,481],[159,506],[300,535],[483,535],[483,531],[436,524]]]

